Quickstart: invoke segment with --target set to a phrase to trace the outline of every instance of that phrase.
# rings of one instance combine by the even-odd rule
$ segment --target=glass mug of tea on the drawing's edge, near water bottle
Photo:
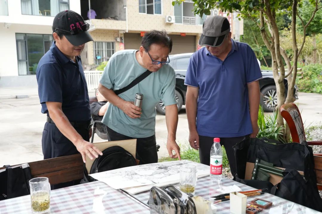
[[[197,184],[197,169],[192,165],[180,167],[180,190],[184,193],[194,194]]]

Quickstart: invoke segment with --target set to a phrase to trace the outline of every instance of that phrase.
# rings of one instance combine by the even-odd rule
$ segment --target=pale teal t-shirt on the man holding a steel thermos
[[[135,57],[137,50],[118,51],[109,59],[100,83],[108,89],[119,90],[130,84],[135,78],[146,71]],[[170,65],[162,65],[144,80],[118,96],[126,101],[134,102],[135,94],[143,94],[142,114],[132,119],[121,109],[109,105],[102,122],[120,134],[143,138],[155,134],[156,105],[160,99],[165,106],[175,102],[175,71]]]

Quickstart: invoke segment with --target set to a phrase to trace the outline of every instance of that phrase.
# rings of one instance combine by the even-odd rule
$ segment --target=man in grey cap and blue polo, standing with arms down
[[[232,146],[258,133],[262,75],[251,47],[231,36],[227,18],[207,17],[199,39],[205,48],[191,56],[185,85],[191,147],[199,150],[201,163],[210,165],[213,138],[220,138],[235,176]]]

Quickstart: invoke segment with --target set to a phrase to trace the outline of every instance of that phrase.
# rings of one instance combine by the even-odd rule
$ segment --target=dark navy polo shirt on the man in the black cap
[[[62,103],[69,121],[90,120],[90,100],[81,57],[76,63],[55,45],[40,59],[36,72],[41,112],[48,113],[46,102]]]

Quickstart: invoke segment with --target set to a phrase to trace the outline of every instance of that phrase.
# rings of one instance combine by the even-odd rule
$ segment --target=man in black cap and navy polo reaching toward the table
[[[37,67],[41,112],[47,114],[43,129],[44,159],[81,153],[90,159],[102,155],[89,142],[90,104],[81,52],[93,41],[89,24],[71,10],[58,13],[52,24],[54,42]]]

